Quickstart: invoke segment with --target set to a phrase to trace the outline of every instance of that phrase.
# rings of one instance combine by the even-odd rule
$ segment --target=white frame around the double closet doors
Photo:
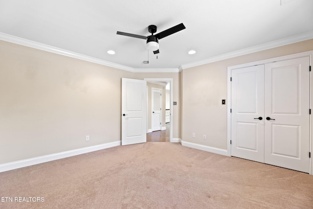
[[[286,56],[281,56],[281,57],[275,57],[271,59],[266,59],[266,60],[260,60],[260,61],[255,61],[255,62],[250,62],[250,63],[245,63],[241,65],[235,65],[235,66],[230,66],[227,67],[227,155],[231,156],[231,146],[230,146],[230,140],[231,140],[231,70],[239,69],[239,68],[246,68],[246,67],[251,67],[255,65],[262,65],[262,64],[267,64],[267,63],[272,63],[272,62],[277,62],[277,61],[283,61],[283,60],[290,60],[290,59],[295,59],[295,58],[300,58],[300,57],[306,57],[310,56],[310,66],[312,68],[312,58],[313,58],[313,51],[306,51],[306,52],[301,52],[301,53],[296,53],[296,54],[291,54],[291,55],[286,55]],[[312,109],[312,104],[313,104],[313,85],[312,85],[312,71],[310,72],[310,109]],[[313,175],[313,138],[312,138],[312,129],[313,129],[313,124],[312,124],[312,115],[310,115],[310,133],[309,133],[309,138],[310,138],[310,152],[311,152],[311,158],[310,158],[310,174]]]

